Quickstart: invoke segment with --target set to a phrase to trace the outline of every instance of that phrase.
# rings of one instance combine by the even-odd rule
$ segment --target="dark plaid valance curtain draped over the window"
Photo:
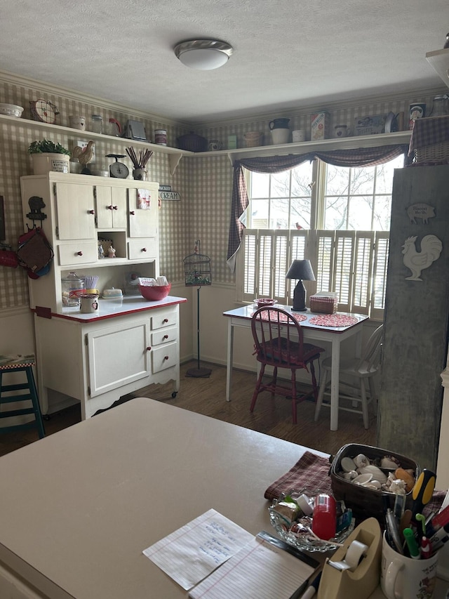
[[[307,154],[288,154],[246,158],[234,163],[234,183],[232,187],[231,220],[229,223],[229,241],[227,246],[227,265],[235,270],[236,253],[243,237],[244,225],[241,216],[249,204],[243,167],[256,173],[280,173],[293,169],[298,164],[319,158],[334,166],[375,166],[400,156],[407,155],[408,145],[382,145],[380,147],[359,147],[356,150],[333,150],[333,152],[308,152]]]

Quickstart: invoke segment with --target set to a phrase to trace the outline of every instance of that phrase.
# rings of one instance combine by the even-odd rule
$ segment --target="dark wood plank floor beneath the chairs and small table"
[[[225,400],[226,368],[201,362],[201,367],[212,370],[210,377],[199,379],[185,376],[187,369],[196,368],[197,363],[190,362],[181,367],[180,391],[177,397],[171,397],[171,383],[152,385],[132,396],[126,396],[121,402],[132,397],[152,397],[192,412],[205,414],[212,418],[244,426],[260,433],[266,433],[288,441],[299,443],[322,452],[335,454],[342,445],[360,443],[375,445],[376,417],[370,412],[370,428],[365,430],[361,415],[340,412],[339,430],[329,430],[329,409],[321,409],[319,422],[314,422],[314,403],[302,402],[297,407],[297,425],[292,423],[291,403],[284,397],[272,399],[269,393],[259,396],[253,414],[249,411],[250,399],[255,386],[255,374],[234,371],[232,402]],[[113,409],[113,408],[112,408]],[[94,416],[95,417],[95,416]],[[81,420],[79,405],[52,414],[45,422],[46,434],[51,435]],[[35,430],[20,430],[0,435],[0,455],[19,449],[38,439]]]

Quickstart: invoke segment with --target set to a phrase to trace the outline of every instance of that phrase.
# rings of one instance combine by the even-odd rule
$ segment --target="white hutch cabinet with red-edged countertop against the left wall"
[[[81,402],[82,419],[152,383],[173,381],[175,395],[185,298],[149,302],[134,287],[122,303],[100,298],[94,314],[62,304],[61,281],[71,271],[98,276],[100,291],[159,276],[158,183],[51,172],[20,184],[25,230],[41,226],[55,254],[48,274],[29,279],[43,414],[52,411],[49,390]],[[44,204],[45,218],[31,198]],[[114,246],[115,258],[99,258],[99,240]]]

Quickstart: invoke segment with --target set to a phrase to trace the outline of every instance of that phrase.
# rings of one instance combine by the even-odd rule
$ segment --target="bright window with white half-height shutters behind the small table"
[[[247,226],[238,256],[241,301],[290,303],[290,263],[309,258],[309,294],[336,291],[339,310],[381,320],[387,280],[389,218],[398,157],[380,166],[344,168],[320,161],[277,174],[248,173]]]

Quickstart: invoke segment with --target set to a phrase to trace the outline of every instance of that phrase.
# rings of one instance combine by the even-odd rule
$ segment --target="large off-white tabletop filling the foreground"
[[[264,491],[306,449],[131,400],[0,458],[0,565],[52,599],[186,597],[142,551],[210,508],[270,530]]]

